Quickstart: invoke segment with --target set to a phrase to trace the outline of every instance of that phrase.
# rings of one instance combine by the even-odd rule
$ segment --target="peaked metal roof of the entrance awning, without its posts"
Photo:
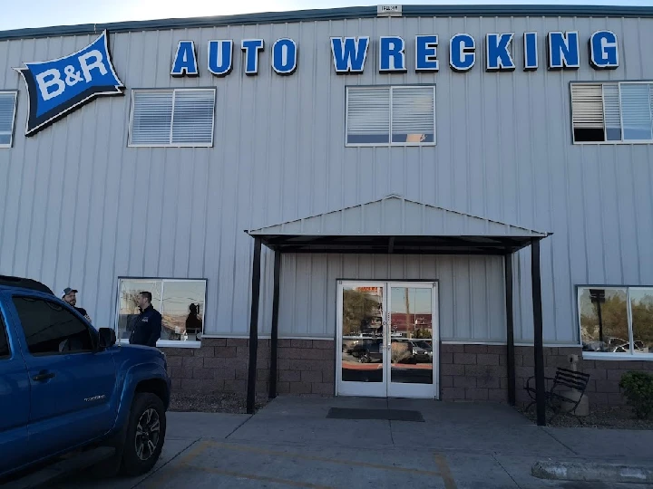
[[[549,233],[390,195],[247,231],[281,253],[512,254]]]

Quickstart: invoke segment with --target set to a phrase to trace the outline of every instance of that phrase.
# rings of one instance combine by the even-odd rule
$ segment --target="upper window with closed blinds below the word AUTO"
[[[213,146],[215,94],[215,89],[134,90],[130,146]]]

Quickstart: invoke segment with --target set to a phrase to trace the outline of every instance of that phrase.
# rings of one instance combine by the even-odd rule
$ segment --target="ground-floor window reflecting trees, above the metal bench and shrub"
[[[580,288],[579,314],[583,351],[653,354],[653,289]]]

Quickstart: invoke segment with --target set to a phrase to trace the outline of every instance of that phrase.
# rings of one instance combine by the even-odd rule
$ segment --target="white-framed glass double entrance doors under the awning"
[[[337,394],[437,398],[437,283],[338,284]]]

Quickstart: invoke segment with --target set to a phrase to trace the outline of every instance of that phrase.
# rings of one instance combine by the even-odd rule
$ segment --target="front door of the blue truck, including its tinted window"
[[[60,302],[14,295],[31,384],[29,440],[34,455],[54,453],[106,434],[116,417],[109,350],[97,331]]]

